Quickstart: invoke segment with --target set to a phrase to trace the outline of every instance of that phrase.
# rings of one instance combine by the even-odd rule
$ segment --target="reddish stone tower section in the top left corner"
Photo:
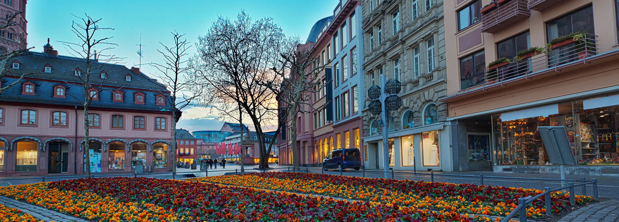
[[[16,12],[22,12],[12,20],[12,22],[15,22],[15,25],[0,30],[0,54],[25,49],[28,45],[28,33],[26,32],[28,22],[25,19],[26,3],[26,0],[7,0],[0,2],[0,20],[3,24]]]

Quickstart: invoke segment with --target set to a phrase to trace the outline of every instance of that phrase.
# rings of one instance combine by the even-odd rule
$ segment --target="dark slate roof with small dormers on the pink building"
[[[74,70],[79,68],[82,71],[82,76],[85,75],[85,61],[79,58],[67,56],[50,56],[46,53],[28,52],[23,56],[18,56],[12,59],[20,63],[19,69],[12,69],[12,62],[6,64],[7,76],[19,76],[28,74],[28,79],[21,80],[20,83],[13,85],[11,88],[2,91],[0,101],[15,101],[28,103],[42,103],[49,105],[77,105],[83,104],[84,87],[74,83],[79,83],[80,80],[74,74]],[[44,72],[46,64],[52,67],[51,73]],[[108,78],[105,79],[104,85],[108,90],[100,92],[98,101],[93,100],[91,107],[102,108],[119,108],[119,109],[145,109],[150,111],[169,110],[169,106],[157,106],[155,104],[156,96],[160,93],[169,94],[167,89],[154,79],[150,79],[143,73],[136,74],[131,69],[116,64],[105,64],[95,62],[93,67],[100,67],[92,71],[91,78],[93,81],[101,81],[100,72],[105,70]],[[131,75],[131,82],[125,81],[125,75]],[[2,77],[0,79],[2,85],[7,85],[15,81],[15,78]],[[29,81],[35,84],[35,95],[22,95],[22,83]],[[63,85],[66,87],[66,98],[54,97],[54,87]],[[123,103],[113,102],[110,91],[120,89],[123,92]],[[134,103],[134,93],[142,92],[145,94],[144,104]],[[79,98],[77,100],[76,98]],[[166,100],[168,103],[168,100]]]

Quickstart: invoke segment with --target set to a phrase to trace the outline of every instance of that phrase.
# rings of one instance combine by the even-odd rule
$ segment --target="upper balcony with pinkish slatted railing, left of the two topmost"
[[[493,2],[495,7],[483,12],[482,32],[495,33],[531,15],[527,0],[503,0]]]

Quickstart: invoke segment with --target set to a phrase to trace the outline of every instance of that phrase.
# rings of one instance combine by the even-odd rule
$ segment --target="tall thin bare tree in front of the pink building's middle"
[[[93,70],[100,70],[105,64],[118,62],[121,58],[112,54],[105,54],[110,49],[113,49],[112,46],[116,45],[109,42],[113,38],[112,36],[98,37],[97,35],[101,31],[114,30],[113,28],[100,27],[101,19],[92,19],[87,14],[84,17],[77,17],[76,20],[72,22],[71,31],[79,38],[79,41],[75,43],[61,41],[61,43],[69,48],[69,53],[72,56],[84,59],[86,65],[85,72],[76,71],[76,77],[84,88],[84,97],[79,98],[79,95],[71,96],[82,102],[82,106],[84,106],[84,170],[85,174],[90,176],[90,119],[88,111],[92,100],[97,98],[102,91],[108,90],[103,87],[106,78],[95,80],[92,76]]]

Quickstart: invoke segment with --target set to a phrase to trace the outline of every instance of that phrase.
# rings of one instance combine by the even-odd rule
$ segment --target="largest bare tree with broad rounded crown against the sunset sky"
[[[282,28],[273,19],[253,21],[241,11],[236,20],[219,17],[196,45],[203,70],[200,79],[209,88],[205,96],[214,98],[211,107],[225,115],[231,115],[230,109],[236,106],[241,124],[243,113],[248,116],[258,137],[260,168],[269,167],[271,153],[262,126],[277,116],[275,93],[261,83],[277,79],[271,67],[285,42]]]

